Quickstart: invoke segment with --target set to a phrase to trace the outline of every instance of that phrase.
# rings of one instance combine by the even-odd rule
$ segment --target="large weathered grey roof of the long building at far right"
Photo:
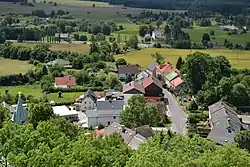
[[[219,144],[232,143],[237,132],[248,129],[237,116],[237,110],[225,102],[217,102],[209,108],[212,129],[208,135],[209,139]]]

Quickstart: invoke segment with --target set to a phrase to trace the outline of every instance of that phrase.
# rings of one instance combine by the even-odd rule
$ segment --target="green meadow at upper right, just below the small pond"
[[[234,44],[246,44],[246,42],[250,41],[250,33],[242,34],[242,35],[228,35],[229,31],[223,31],[221,28],[213,26],[213,27],[199,27],[194,26],[193,29],[184,29],[185,32],[189,33],[191,40],[194,42],[200,42],[203,33],[208,33],[213,30],[215,31],[214,36],[210,36],[212,42],[215,44],[216,42],[219,45],[224,45],[224,40],[228,39]],[[212,39],[212,38],[215,39]]]

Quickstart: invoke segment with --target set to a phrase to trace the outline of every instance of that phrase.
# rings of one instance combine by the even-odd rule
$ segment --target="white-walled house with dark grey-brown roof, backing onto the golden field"
[[[134,80],[138,72],[139,72],[139,68],[137,65],[119,65],[118,66],[118,76],[120,80],[127,80],[129,78]]]

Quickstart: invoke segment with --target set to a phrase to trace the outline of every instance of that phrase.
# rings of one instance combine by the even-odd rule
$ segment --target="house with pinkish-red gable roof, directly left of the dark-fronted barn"
[[[124,94],[145,94],[143,84],[132,81],[123,86]]]

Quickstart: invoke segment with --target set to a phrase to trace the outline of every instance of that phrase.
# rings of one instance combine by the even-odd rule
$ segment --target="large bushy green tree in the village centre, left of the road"
[[[153,105],[147,105],[143,95],[134,95],[128,101],[128,106],[121,112],[121,123],[129,128],[142,125],[165,126],[170,121],[166,116],[157,113]]]

